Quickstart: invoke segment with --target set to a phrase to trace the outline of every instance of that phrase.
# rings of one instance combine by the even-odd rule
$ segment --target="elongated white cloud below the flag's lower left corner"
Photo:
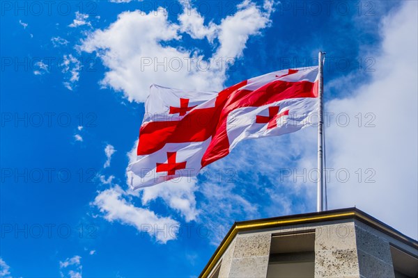
[[[167,243],[177,238],[179,223],[167,217],[160,217],[146,208],[139,208],[123,198],[119,186],[104,190],[93,202],[103,217],[109,222],[118,221],[135,227],[139,232],[146,232],[155,238],[157,243]]]

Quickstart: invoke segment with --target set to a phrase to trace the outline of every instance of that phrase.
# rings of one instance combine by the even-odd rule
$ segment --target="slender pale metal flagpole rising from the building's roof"
[[[323,55],[325,52],[318,53],[318,183],[316,185],[316,211],[323,211]]]

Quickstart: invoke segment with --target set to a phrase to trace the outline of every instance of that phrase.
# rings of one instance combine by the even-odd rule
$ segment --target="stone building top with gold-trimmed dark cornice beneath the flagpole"
[[[418,242],[357,208],[235,222],[200,277],[418,278]]]

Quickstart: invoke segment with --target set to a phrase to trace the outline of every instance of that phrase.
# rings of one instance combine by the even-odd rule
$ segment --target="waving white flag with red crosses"
[[[317,121],[318,67],[271,72],[221,92],[151,85],[139,131],[133,188],[196,176],[247,138],[279,136]]]

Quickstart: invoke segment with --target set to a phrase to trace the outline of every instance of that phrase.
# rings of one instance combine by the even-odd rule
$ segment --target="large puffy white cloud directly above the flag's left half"
[[[225,65],[219,59],[242,56],[250,35],[268,26],[270,12],[250,1],[238,6],[235,15],[221,24],[203,25],[203,17],[195,9],[185,9],[180,26],[169,22],[167,10],[159,8],[148,14],[135,10],[118,15],[109,28],[91,33],[80,46],[82,51],[97,51],[109,71],[102,85],[123,91],[130,101],[145,101],[152,83],[173,88],[220,90],[226,79]],[[187,13],[189,15],[187,15]],[[164,30],[164,32],[161,32]],[[216,32],[214,32],[216,30]],[[181,39],[181,32],[192,38],[219,39],[219,48],[205,60],[196,50],[163,46],[162,42]],[[135,33],[137,35],[132,35]],[[162,63],[162,65],[158,64]]]

